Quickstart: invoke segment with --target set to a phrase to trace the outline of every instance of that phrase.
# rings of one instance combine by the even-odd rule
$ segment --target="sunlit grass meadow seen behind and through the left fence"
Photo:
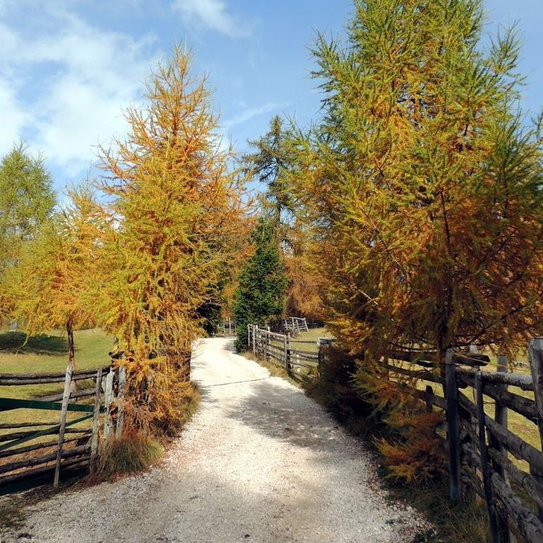
[[[84,370],[107,366],[107,355],[112,349],[112,338],[101,330],[79,330],[74,334],[76,346],[76,369]],[[21,332],[0,332],[0,373],[46,373],[62,372],[68,365],[68,344],[62,332],[50,332],[31,337],[25,344]],[[93,381],[78,381],[78,390],[93,386]],[[48,385],[24,385],[0,387],[0,397],[31,399],[62,392],[63,383]],[[69,414],[69,419],[81,414]],[[0,424],[22,422],[45,422],[58,424],[58,411],[42,409],[13,409],[0,412]],[[86,423],[85,423],[86,424]],[[0,431],[0,433],[8,433]]]

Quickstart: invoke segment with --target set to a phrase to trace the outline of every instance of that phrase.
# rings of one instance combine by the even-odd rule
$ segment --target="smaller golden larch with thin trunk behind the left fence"
[[[86,190],[71,192],[69,202],[23,244],[18,262],[6,273],[13,317],[27,334],[64,329],[68,363],[75,368],[74,329],[95,322],[90,286],[103,219]]]

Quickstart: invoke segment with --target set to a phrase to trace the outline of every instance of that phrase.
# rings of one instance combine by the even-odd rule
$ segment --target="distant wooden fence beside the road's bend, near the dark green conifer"
[[[255,356],[283,367],[294,378],[302,375],[315,378],[320,373],[321,346],[331,341],[326,338],[302,341],[293,339],[291,334],[277,334],[257,325],[247,325],[247,338],[249,350]]]

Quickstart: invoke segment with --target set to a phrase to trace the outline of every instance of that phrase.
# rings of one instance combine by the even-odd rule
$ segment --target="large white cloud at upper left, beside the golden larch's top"
[[[58,6],[33,17],[31,32],[11,30],[9,40],[0,21],[0,154],[23,136],[75,176],[99,140],[125,132],[122,107],[141,95],[153,39],[96,28]]]

